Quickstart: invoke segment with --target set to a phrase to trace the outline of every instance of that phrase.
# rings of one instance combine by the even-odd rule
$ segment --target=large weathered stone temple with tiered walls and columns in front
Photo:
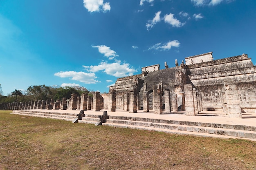
[[[175,60],[175,65],[168,68],[165,63],[162,70],[159,64],[147,66],[139,75],[118,78],[110,87],[115,91],[116,108],[129,108],[132,113],[136,109],[157,110],[158,114],[161,109],[186,111],[191,116],[220,110],[237,118],[256,111],[256,66],[246,54],[213,60],[210,52],[186,57],[180,66]],[[106,102],[112,103],[108,100],[104,97],[105,108]]]

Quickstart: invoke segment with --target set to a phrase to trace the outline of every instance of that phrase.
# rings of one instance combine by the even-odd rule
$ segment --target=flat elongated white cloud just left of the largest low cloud
[[[97,77],[95,76],[95,73],[85,73],[85,72],[76,72],[76,71],[61,71],[58,73],[54,73],[55,76],[58,77],[72,77],[72,80],[77,80],[79,82],[83,82],[85,84],[95,84],[99,83],[100,81],[96,80]]]

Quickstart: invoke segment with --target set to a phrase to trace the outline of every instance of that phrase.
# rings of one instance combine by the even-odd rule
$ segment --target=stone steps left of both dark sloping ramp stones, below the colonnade
[[[38,110],[13,110],[11,114],[74,121],[78,113],[58,113]]]

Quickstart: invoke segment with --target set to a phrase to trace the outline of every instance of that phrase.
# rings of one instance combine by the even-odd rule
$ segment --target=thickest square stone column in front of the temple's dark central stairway
[[[162,86],[153,85],[153,111],[154,114],[163,113],[163,104],[162,104]]]

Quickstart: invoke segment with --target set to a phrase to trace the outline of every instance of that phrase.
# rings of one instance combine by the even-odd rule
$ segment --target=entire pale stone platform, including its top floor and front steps
[[[256,113],[243,113],[243,119],[238,119],[229,118],[219,111],[201,112],[191,117],[186,116],[184,112],[156,115],[153,110],[149,112],[137,110],[137,113],[128,113],[124,110],[116,110],[116,112],[86,110],[85,117],[78,122],[96,124],[103,111],[107,111],[109,116],[107,122],[102,124],[104,126],[256,141]],[[80,110],[13,110],[11,114],[74,121],[79,112]]]

